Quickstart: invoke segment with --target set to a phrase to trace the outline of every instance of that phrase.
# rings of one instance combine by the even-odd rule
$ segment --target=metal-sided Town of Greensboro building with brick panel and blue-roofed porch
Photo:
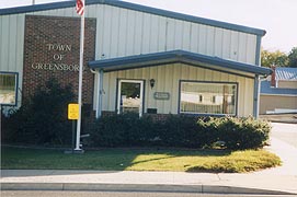
[[[19,88],[12,94],[18,106],[53,77],[78,90],[75,3],[0,10],[1,78],[18,79],[1,89]],[[260,66],[263,30],[87,0],[84,32],[82,102],[96,117],[127,111],[140,116],[259,114],[260,78],[272,72]]]

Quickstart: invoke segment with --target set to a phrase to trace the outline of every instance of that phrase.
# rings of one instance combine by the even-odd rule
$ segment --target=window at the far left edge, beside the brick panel
[[[18,73],[0,72],[0,104],[16,105]]]

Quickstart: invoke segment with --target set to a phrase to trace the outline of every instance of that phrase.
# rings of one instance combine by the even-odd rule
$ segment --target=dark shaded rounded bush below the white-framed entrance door
[[[130,147],[153,144],[157,127],[149,118],[127,113],[96,119],[88,127],[91,147]]]

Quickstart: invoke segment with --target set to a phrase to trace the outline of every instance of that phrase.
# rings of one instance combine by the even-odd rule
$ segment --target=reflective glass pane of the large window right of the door
[[[181,82],[180,113],[236,115],[237,83]]]

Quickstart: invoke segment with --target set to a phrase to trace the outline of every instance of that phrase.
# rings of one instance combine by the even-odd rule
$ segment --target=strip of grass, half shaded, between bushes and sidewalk
[[[243,173],[281,165],[264,150],[103,149],[84,154],[3,147],[1,169]]]

